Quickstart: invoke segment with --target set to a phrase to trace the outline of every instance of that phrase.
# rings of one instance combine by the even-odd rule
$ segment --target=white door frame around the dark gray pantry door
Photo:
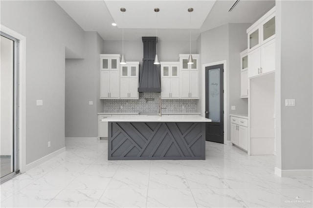
[[[205,117],[205,67],[223,64],[224,65],[224,73],[223,73],[223,80],[224,80],[224,144],[227,144],[227,106],[228,104],[228,94],[227,94],[227,65],[226,60],[219,61],[219,62],[210,62],[210,63],[203,63],[202,64],[202,102],[201,102],[201,116]]]

